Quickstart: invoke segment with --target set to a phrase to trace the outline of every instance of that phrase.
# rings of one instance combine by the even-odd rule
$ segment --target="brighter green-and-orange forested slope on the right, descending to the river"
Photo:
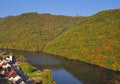
[[[69,28],[44,51],[120,70],[120,9],[99,12]]]

